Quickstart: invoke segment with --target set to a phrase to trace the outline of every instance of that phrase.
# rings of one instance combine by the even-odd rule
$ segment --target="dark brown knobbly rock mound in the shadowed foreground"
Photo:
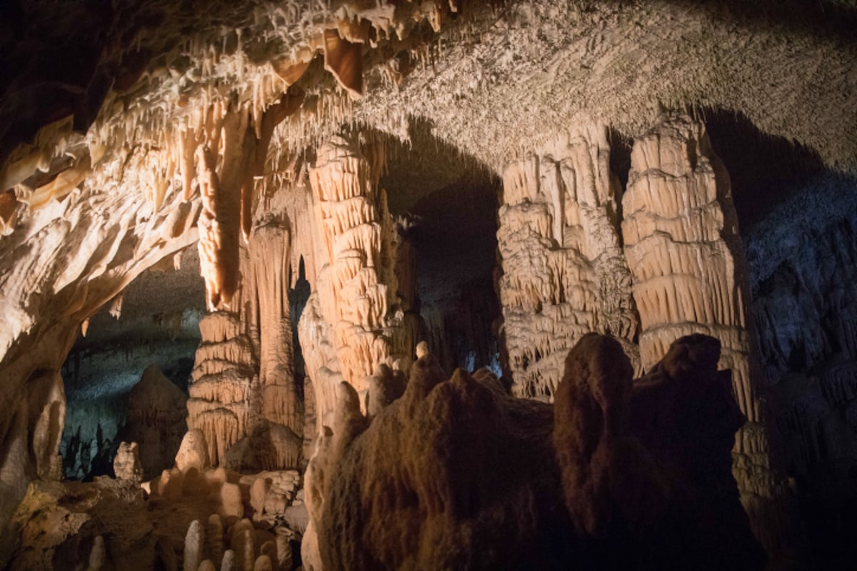
[[[762,568],[730,472],[742,419],[718,353],[683,338],[632,386],[621,344],[590,334],[555,407],[507,395],[484,369],[446,381],[431,355],[372,419],[340,385],[307,473],[320,560],[305,538],[304,565]]]

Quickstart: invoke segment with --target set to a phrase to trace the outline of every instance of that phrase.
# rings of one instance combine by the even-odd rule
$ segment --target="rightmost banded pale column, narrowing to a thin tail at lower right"
[[[769,554],[782,552],[783,519],[775,512],[789,496],[788,485],[771,467],[769,434],[760,424],[746,264],[729,176],[702,123],[666,116],[634,141],[622,211],[643,366],[662,359],[680,336],[720,340],[719,366],[732,370],[735,399],[747,418],[734,446],[741,501]]]

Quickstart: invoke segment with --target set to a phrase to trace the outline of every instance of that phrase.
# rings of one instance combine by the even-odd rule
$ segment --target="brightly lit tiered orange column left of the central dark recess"
[[[336,387],[361,396],[382,363],[407,370],[416,327],[400,291],[399,235],[378,187],[381,141],[362,145],[335,137],[309,171],[315,221],[317,288],[304,309],[299,336],[315,389],[319,425],[336,404]]]

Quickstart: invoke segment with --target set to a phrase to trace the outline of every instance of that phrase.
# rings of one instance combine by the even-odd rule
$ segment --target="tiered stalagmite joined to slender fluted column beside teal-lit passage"
[[[242,281],[231,304],[238,311],[213,312],[200,322],[188,426],[205,433],[215,463],[298,465],[303,391],[291,347],[290,253],[285,215],[256,226],[241,248]]]

